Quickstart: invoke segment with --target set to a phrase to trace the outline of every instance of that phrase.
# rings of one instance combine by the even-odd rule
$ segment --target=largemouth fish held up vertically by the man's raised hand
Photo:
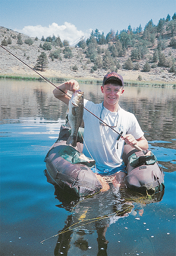
[[[71,126],[71,135],[66,142],[73,147],[77,145],[77,133],[83,121],[84,92],[76,90],[68,104],[68,121]]]

